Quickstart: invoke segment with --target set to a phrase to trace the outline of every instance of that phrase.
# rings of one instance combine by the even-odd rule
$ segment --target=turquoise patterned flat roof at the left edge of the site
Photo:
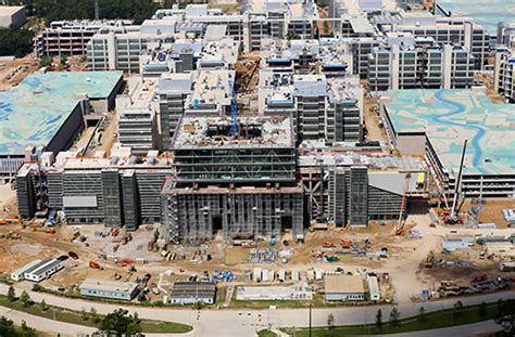
[[[122,72],[37,73],[0,92],[0,154],[46,146],[78,102],[108,98]]]

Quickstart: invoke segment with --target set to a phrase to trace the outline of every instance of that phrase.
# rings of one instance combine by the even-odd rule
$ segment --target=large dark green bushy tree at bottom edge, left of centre
[[[141,320],[125,309],[116,309],[100,321],[99,330],[108,335],[135,336],[141,333]]]

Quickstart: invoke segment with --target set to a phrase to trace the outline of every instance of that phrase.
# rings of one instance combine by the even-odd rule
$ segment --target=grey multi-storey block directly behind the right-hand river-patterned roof
[[[388,44],[368,55],[370,90],[472,87],[475,62],[465,48],[411,36],[389,39]]]

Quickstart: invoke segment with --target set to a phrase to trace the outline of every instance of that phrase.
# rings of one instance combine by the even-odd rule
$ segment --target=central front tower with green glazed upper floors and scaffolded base
[[[233,126],[234,127],[234,126]],[[296,182],[289,117],[183,117],[172,142],[175,177],[162,191],[171,243],[280,235],[303,238],[303,192]]]

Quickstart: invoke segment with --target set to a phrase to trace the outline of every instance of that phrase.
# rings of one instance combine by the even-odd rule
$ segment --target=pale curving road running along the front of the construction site
[[[0,284],[0,293],[7,294],[8,286]],[[22,289],[16,287],[20,295]],[[241,337],[253,336],[256,330],[265,328],[268,324],[274,327],[280,326],[307,326],[309,313],[306,309],[265,309],[265,310],[202,310],[199,312],[188,309],[169,308],[146,308],[136,306],[115,306],[81,299],[70,299],[45,293],[28,291],[30,298],[37,302],[42,299],[48,304],[68,308],[72,310],[87,310],[91,307],[100,314],[110,313],[117,308],[125,308],[130,312],[137,312],[141,319],[160,320],[168,322],[180,322],[193,326],[193,332],[185,336],[211,336],[216,332],[218,336]],[[493,293],[474,297],[462,297],[463,304],[477,304],[482,301],[491,302],[498,299],[515,298],[515,291]],[[401,304],[397,308],[401,317],[415,315],[420,306],[426,311],[440,310],[452,307],[457,299],[447,299],[435,302]],[[384,316],[388,316],[391,306],[367,306],[367,307],[342,307],[313,309],[313,326],[327,325],[329,313],[335,315],[336,325],[373,323],[378,309],[382,310]],[[36,326],[32,320],[27,320],[32,326]],[[56,326],[56,324],[55,324]],[[54,328],[54,325],[50,326]],[[55,327],[56,328],[56,327]]]

